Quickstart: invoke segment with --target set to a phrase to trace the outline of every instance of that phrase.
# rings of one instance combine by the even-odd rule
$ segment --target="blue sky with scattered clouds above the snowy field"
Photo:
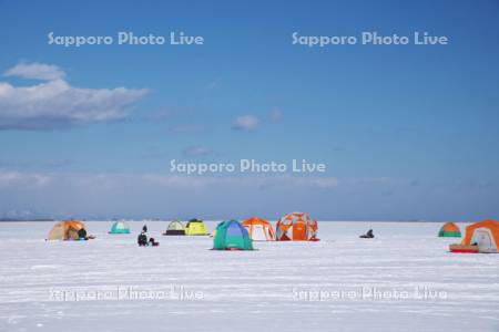
[[[497,1],[267,2],[0,1],[0,216],[497,218]],[[205,43],[64,48],[51,31]],[[307,48],[294,31],[450,43]],[[182,176],[173,158],[328,170]]]

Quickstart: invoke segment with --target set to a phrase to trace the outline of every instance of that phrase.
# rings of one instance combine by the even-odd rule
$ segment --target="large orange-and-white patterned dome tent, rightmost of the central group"
[[[317,220],[312,220],[308,214],[287,214],[277,221],[275,227],[277,241],[318,241]]]

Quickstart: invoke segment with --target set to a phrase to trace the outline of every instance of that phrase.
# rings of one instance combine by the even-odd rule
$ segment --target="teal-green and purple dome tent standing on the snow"
[[[216,226],[213,238],[216,250],[253,250],[253,241],[247,229],[237,220],[222,221]]]

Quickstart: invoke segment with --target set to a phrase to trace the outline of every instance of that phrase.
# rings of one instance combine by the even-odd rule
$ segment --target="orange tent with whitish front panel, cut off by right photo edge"
[[[480,252],[499,252],[499,221],[488,219],[468,226],[461,245],[475,243]]]

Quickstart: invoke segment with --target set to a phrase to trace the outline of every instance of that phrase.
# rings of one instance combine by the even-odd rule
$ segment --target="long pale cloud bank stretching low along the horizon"
[[[497,186],[473,191],[456,190],[450,184],[420,188],[407,179],[342,178],[294,175],[184,176],[175,174],[29,173],[0,169],[0,216],[9,210],[42,211],[44,216],[95,218],[129,217],[244,217],[253,212],[279,216],[306,210],[315,216],[385,218],[405,214],[413,218],[414,201],[422,199],[435,214],[455,211],[455,200],[468,214],[479,214],[476,201],[486,201]],[[431,190],[429,190],[431,189]],[[456,195],[452,197],[451,195]],[[388,194],[387,194],[388,193]],[[428,193],[435,193],[427,197]],[[389,196],[387,196],[389,195]],[[435,197],[434,197],[435,196]],[[446,197],[445,200],[439,200]],[[435,204],[434,204],[435,203]],[[448,211],[441,212],[441,206]],[[359,206],[363,208],[359,210]],[[482,208],[482,205],[480,206]],[[406,210],[406,211],[404,211]],[[461,209],[465,214],[465,209]],[[388,215],[386,215],[388,214]],[[94,216],[94,217],[92,217]],[[339,217],[338,217],[339,218]],[[389,219],[398,217],[389,217]],[[406,217],[404,217],[406,218]]]

